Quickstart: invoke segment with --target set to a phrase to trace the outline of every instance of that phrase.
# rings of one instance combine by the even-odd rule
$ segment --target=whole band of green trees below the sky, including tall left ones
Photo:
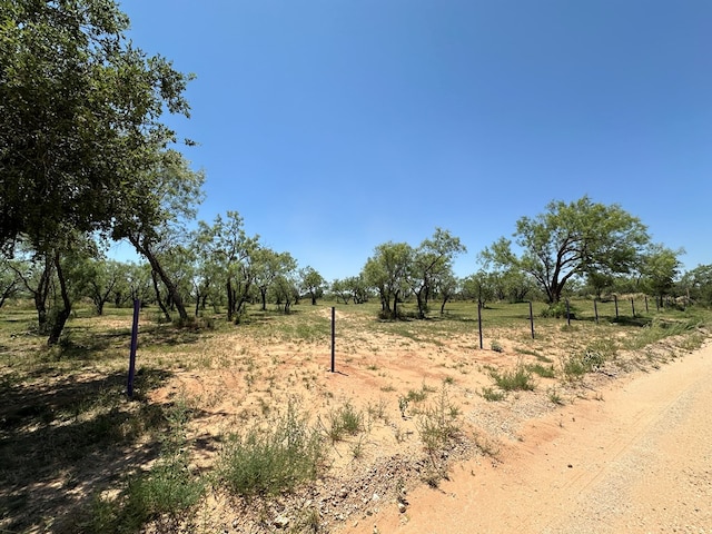
[[[167,320],[209,312],[235,323],[248,305],[288,313],[326,293],[344,304],[377,298],[386,319],[399,318],[405,301],[425,318],[455,298],[556,304],[573,291],[624,288],[712,300],[711,266],[681,276],[682,250],[652,244],[637,218],[587,197],[522,217],[514,240],[485,248],[482,268],[463,279],[453,261],[465,247],[441,228],[416,246],[380,244],[360,273],[329,284],[246,235],[237,211],[196,221],[205,176],[162,122],[166,112],[189,116],[192,76],[136,48],[128,27],[103,0],[2,2],[0,306],[31,299],[49,344],[79,300],[99,315],[138,298]],[[118,240],[144,261],[108,259]]]

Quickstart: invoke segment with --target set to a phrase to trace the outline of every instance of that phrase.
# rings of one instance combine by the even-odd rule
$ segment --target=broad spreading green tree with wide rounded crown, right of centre
[[[515,243],[501,238],[482,253],[486,264],[527,273],[550,303],[557,303],[572,277],[587,273],[629,273],[636,268],[650,238],[645,226],[620,206],[586,196],[566,204],[552,201],[546,212],[516,222]]]

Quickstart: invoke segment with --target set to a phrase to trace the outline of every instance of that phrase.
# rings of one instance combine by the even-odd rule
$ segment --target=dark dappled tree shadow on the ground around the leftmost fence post
[[[169,376],[140,369],[134,399],[119,372],[1,382],[0,532],[62,532],[60,518],[156,457],[169,407],[147,393]]]

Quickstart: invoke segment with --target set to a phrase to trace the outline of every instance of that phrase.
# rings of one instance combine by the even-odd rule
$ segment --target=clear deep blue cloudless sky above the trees
[[[194,72],[199,218],[327,280],[436,227],[468,253],[589,195],[712,263],[710,0],[121,0]]]

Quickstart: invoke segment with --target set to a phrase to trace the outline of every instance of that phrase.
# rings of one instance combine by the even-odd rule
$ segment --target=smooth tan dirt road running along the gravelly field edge
[[[712,533],[712,345],[532,421],[345,532]]]

